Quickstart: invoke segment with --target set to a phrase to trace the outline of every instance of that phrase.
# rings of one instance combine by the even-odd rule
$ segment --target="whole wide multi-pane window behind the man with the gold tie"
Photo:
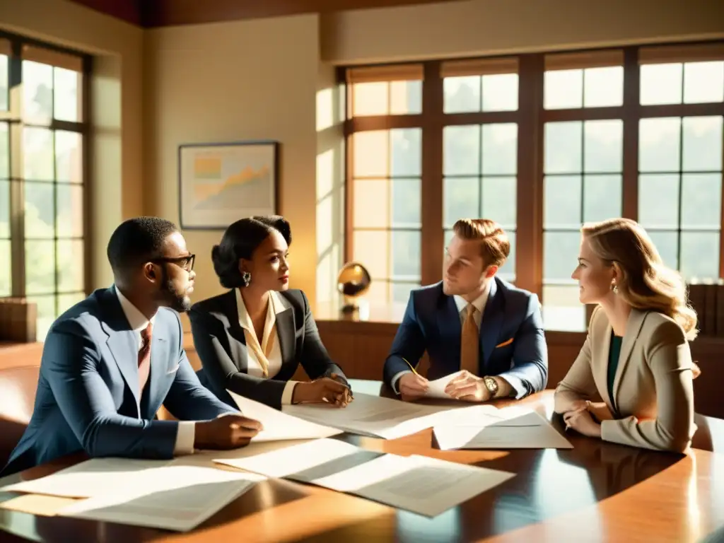
[[[586,329],[571,279],[585,222],[637,220],[686,279],[723,277],[723,42],[346,74],[348,260],[374,269],[374,301],[404,302],[408,286],[439,281],[439,247],[463,217],[509,233],[500,277],[539,295],[547,329]],[[406,102],[392,98],[400,89]],[[415,148],[414,169],[392,167],[400,140]],[[395,192],[402,180],[408,190]],[[414,251],[392,243],[405,229]]]

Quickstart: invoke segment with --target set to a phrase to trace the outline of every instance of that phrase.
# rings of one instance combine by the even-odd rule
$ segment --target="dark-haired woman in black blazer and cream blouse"
[[[222,295],[195,303],[191,332],[203,381],[236,407],[227,390],[274,408],[344,406],[350,387],[319,338],[309,301],[289,288],[292,233],[282,216],[240,219],[211,251]],[[299,363],[311,382],[291,381]]]

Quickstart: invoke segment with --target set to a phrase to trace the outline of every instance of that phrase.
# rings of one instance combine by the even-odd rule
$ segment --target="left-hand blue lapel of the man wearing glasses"
[[[123,314],[123,308],[118,300],[114,287],[106,290],[103,296],[106,320],[102,324],[108,334],[106,345],[118,366],[127,387],[135,398],[136,408],[139,408],[138,397],[138,345],[135,334]],[[140,416],[140,413],[139,413]]]

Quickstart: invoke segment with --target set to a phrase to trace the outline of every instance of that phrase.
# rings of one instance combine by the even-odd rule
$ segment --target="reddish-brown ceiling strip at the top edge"
[[[457,0],[70,0],[144,28]]]

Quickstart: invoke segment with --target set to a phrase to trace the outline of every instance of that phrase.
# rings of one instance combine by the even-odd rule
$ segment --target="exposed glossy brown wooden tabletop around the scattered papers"
[[[352,380],[355,392],[390,396],[380,382]],[[565,434],[570,450],[448,450],[432,430],[384,440],[342,434],[354,445],[397,455],[429,455],[515,473],[493,489],[434,518],[332,490],[268,479],[187,533],[30,514],[0,493],[4,542],[702,542],[724,526],[724,421],[696,417],[686,454],[602,442],[565,432],[552,390],[518,402]],[[502,407],[511,400],[498,401]],[[209,457],[211,458],[211,457]],[[13,476],[34,479],[72,466],[59,459]],[[203,459],[202,459],[203,460]],[[206,461],[206,460],[203,460]],[[210,461],[210,460],[209,460]],[[36,512],[37,513],[37,512]]]

